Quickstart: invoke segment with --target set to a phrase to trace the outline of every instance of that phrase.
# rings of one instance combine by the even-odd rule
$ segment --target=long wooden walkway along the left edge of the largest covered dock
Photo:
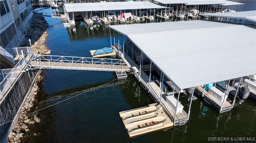
[[[116,48],[114,48],[114,49],[118,53],[117,49]],[[120,55],[120,54],[118,54],[118,55]],[[124,53],[124,57],[125,57],[124,61],[127,63],[128,66],[136,67],[137,69],[140,69],[140,67],[126,53]],[[134,74],[136,77],[139,77],[138,72],[134,73]],[[141,71],[141,77],[138,78],[138,80],[140,81],[143,88],[146,91],[148,91],[149,76],[144,71]],[[160,102],[161,88],[152,79],[150,79],[150,92],[149,93],[155,102],[158,102],[158,103]],[[176,119],[174,121],[176,111],[166,102],[166,96],[168,96],[168,95],[166,95],[164,93],[164,91],[162,91],[161,106],[164,108],[164,111],[172,119],[172,121],[174,122],[174,125],[184,125],[186,123],[186,121],[188,120],[188,114],[184,110],[182,110],[181,113],[176,114]]]

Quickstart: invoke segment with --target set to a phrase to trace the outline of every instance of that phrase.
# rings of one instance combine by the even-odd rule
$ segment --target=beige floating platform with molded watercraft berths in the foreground
[[[171,119],[157,104],[119,112],[130,137],[142,135],[159,129],[173,126]]]

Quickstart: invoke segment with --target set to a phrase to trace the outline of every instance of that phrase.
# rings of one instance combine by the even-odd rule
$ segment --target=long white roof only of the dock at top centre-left
[[[91,2],[64,4],[66,12],[93,12],[108,10],[136,10],[150,8],[165,8],[152,2]]]

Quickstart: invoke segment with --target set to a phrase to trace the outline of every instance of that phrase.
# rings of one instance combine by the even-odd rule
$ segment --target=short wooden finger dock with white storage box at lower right
[[[232,109],[232,104],[230,104],[228,101],[224,101],[222,110],[220,110],[222,102],[218,100],[216,97],[212,96],[210,93],[208,93],[206,90],[204,91],[204,88],[201,86],[197,86],[195,88],[198,92],[201,92],[201,94],[204,92],[204,100],[208,102],[210,105],[212,105],[216,110],[218,110],[220,113],[230,111]]]

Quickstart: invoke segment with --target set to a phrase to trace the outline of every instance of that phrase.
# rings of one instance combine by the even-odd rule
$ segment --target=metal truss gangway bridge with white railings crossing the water
[[[123,59],[70,57],[57,55],[33,55],[28,62],[30,69],[68,69],[87,71],[130,71]]]

